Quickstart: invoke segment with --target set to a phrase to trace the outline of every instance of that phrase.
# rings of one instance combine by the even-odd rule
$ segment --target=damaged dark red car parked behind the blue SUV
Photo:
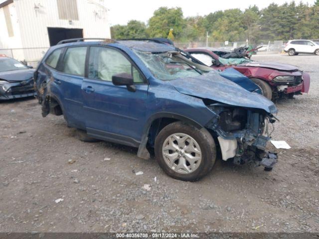
[[[247,58],[225,59],[221,57],[228,53],[225,49],[206,47],[183,50],[216,70],[223,71],[228,67],[236,69],[255,82],[263,95],[270,100],[283,96],[293,98],[294,95],[309,91],[309,74],[297,69],[296,66],[275,62],[256,62]]]

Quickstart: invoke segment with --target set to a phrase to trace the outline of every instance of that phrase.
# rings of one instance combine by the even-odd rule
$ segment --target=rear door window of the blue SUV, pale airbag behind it
[[[84,76],[86,46],[70,47],[63,59],[63,72],[70,75]]]

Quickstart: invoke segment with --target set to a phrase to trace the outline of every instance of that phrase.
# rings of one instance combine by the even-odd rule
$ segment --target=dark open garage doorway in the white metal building
[[[50,46],[56,45],[61,40],[83,38],[83,29],[48,27]]]

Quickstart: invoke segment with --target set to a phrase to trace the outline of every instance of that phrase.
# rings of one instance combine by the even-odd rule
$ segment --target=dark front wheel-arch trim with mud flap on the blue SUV
[[[193,126],[195,126],[198,129],[201,129],[203,127],[203,125],[199,124],[198,122],[196,122],[193,119],[189,119],[185,116],[182,115],[178,115],[175,113],[170,113],[170,112],[159,112],[156,113],[154,115],[152,115],[145,123],[144,128],[143,128],[143,134],[142,134],[142,140],[139,146],[139,150],[138,150],[138,157],[140,158],[144,158],[144,159],[149,159],[150,158],[150,152],[149,150],[146,148],[146,144],[149,140],[149,131],[150,131],[150,127],[152,125],[152,123],[154,122],[154,120],[156,119],[160,119],[160,118],[170,118],[170,119],[178,119],[178,120],[182,120],[185,121]]]

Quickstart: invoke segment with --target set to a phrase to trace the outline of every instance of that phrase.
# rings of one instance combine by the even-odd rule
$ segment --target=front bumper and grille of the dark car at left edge
[[[35,96],[33,80],[6,82],[0,85],[0,100]]]

